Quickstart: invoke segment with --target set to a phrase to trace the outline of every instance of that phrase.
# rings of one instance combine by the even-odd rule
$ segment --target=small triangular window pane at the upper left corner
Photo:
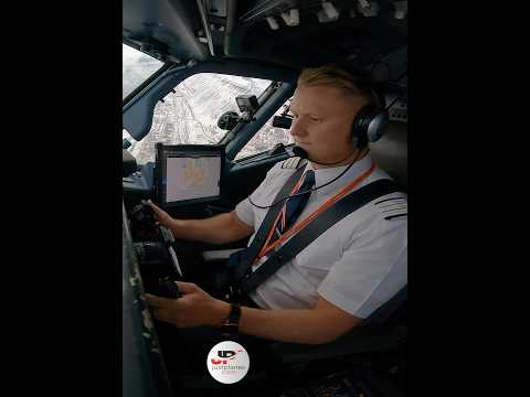
[[[126,44],[123,47],[123,96],[132,93],[141,83],[157,72],[163,63]]]

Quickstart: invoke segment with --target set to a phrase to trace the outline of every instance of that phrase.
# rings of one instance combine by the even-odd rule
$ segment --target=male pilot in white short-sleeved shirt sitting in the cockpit
[[[342,190],[354,192],[390,179],[374,164],[367,142],[352,135],[356,116],[375,100],[373,92],[343,68],[325,65],[301,71],[290,106],[290,133],[307,152],[300,185],[308,194],[290,224],[276,225],[271,232],[272,250],[288,239],[289,229],[296,230]],[[251,236],[252,242],[268,211],[261,206],[273,203],[293,174],[292,162],[275,164],[250,198],[227,214],[177,219],[150,205],[157,221],[176,238],[225,244]],[[266,248],[253,270],[263,264],[259,258],[267,256]],[[395,192],[373,200],[318,236],[250,293],[251,304],[215,299],[191,282],[177,282],[183,294],[179,299],[146,294],[145,300],[156,318],[179,329],[232,322],[240,333],[259,339],[321,344],[361,324],[406,285],[406,195]]]

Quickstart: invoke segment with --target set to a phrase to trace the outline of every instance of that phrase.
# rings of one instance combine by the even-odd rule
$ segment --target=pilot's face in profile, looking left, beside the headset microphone
[[[364,98],[339,88],[298,86],[290,105],[293,139],[310,159],[341,161],[352,152],[351,127],[365,104]]]

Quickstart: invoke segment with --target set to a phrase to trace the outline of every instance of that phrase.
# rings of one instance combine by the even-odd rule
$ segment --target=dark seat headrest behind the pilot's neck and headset
[[[406,192],[406,124],[391,121],[383,137],[370,144],[370,155]]]

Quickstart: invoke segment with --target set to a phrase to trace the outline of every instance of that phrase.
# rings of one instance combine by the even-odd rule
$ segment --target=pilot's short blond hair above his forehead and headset
[[[306,67],[298,76],[298,85],[305,87],[329,86],[342,90],[344,94],[360,96],[369,103],[378,99],[373,92],[359,83],[359,78],[351,75],[343,68],[333,65],[322,65],[318,67]]]

